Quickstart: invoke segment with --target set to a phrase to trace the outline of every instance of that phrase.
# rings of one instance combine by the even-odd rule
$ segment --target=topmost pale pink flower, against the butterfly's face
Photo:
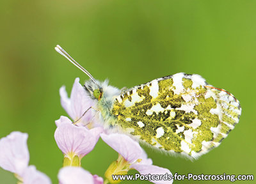
[[[60,96],[62,107],[74,121],[81,118],[87,109],[95,105],[95,102],[92,100],[92,98],[90,98],[89,94],[79,83],[79,78],[76,78],[73,84],[70,98],[68,98],[65,86],[60,88]],[[86,124],[90,123],[95,114],[93,111],[95,110],[88,110],[80,121],[82,123],[85,122]]]

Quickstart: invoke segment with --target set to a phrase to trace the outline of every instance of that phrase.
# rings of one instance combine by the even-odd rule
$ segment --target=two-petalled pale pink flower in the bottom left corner
[[[51,180],[35,166],[28,166],[28,134],[12,132],[0,139],[0,167],[17,174],[23,184],[51,184]]]

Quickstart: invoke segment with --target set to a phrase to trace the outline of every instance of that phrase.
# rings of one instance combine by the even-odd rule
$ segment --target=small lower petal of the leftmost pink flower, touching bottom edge
[[[26,168],[21,178],[24,184],[51,184],[51,180],[46,174],[36,170],[34,165]]]

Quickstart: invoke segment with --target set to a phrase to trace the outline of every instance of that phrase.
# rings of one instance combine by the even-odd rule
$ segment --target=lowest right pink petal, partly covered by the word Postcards
[[[169,180],[151,180],[152,183],[157,183],[157,184],[170,184],[173,182],[171,179],[172,173],[163,167],[158,167],[156,165],[145,165],[145,164],[132,164],[130,166],[131,168],[136,169],[137,171],[140,172],[140,174],[161,174],[161,175],[166,175],[164,179],[169,178]]]

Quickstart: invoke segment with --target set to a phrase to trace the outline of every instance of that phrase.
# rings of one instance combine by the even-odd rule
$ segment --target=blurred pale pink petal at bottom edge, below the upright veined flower
[[[63,167],[58,174],[60,184],[93,184],[93,176],[81,167]]]

